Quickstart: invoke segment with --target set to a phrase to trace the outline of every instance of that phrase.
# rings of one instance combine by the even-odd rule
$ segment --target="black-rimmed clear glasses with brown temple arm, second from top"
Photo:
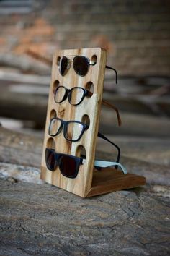
[[[54,93],[55,103],[62,103],[68,98],[68,102],[73,106],[78,106],[84,100],[84,97],[93,95],[89,90],[81,87],[73,87],[71,89],[61,85],[58,86]],[[116,111],[118,124],[121,125],[121,119],[118,109],[107,101],[102,100],[102,104]]]

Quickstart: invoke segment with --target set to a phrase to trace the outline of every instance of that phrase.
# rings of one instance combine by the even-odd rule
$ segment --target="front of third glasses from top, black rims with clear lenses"
[[[63,121],[63,119],[54,117],[50,120],[48,134],[54,137],[59,135],[63,129],[63,136],[65,139],[76,142],[81,139],[84,131],[88,128],[89,126],[81,123],[81,121]]]

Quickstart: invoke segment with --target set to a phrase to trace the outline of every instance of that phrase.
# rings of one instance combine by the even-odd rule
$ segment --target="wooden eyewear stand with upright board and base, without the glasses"
[[[84,77],[76,74],[73,65],[62,76],[58,69],[61,56],[86,56],[96,64],[89,66],[89,71]],[[45,126],[45,137],[42,150],[41,179],[50,184],[65,189],[81,197],[91,197],[121,189],[130,189],[145,184],[143,176],[135,174],[123,174],[115,168],[102,168],[97,171],[94,168],[95,150],[97,145],[97,132],[99,128],[99,116],[102,103],[104,73],[107,60],[107,51],[102,48],[82,48],[55,51],[53,56],[52,79],[48,98],[48,111]],[[72,106],[68,99],[63,103],[55,103],[54,92],[58,85],[71,89],[75,86],[91,90],[91,97],[85,97],[79,106]],[[89,124],[81,140],[70,142],[63,137],[63,132],[56,137],[48,135],[50,119],[57,116],[65,121],[76,120]],[[53,148],[57,153],[80,156],[82,150],[86,153],[86,162],[79,168],[79,174],[75,179],[66,178],[59,168],[50,171],[45,163],[45,148]],[[116,157],[113,156],[113,159]]]

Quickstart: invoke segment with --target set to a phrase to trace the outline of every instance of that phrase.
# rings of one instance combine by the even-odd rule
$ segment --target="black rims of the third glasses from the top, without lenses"
[[[52,123],[53,120],[59,120],[59,121],[61,121],[61,126],[58,128],[58,131],[55,133],[55,135],[51,135],[51,134],[50,134],[50,125],[51,125],[51,123]],[[66,135],[67,135],[68,125],[71,124],[71,123],[73,123],[73,124],[76,123],[76,124],[81,124],[81,125],[82,125],[81,134],[79,135],[78,139],[76,139],[76,140],[71,140],[71,139],[69,139],[69,138],[66,136]],[[84,124],[84,123],[82,123],[81,121],[75,121],[75,120],[64,121],[63,119],[60,119],[60,118],[58,118],[58,117],[53,117],[52,119],[50,119],[50,125],[49,125],[49,127],[48,127],[48,135],[50,135],[51,137],[55,137],[55,136],[59,135],[59,134],[61,133],[61,130],[63,129],[63,136],[65,137],[66,140],[69,140],[69,141],[71,141],[71,142],[77,142],[77,141],[79,141],[79,140],[81,139],[82,135],[84,134],[84,132],[86,131],[86,129],[89,128],[89,125]]]

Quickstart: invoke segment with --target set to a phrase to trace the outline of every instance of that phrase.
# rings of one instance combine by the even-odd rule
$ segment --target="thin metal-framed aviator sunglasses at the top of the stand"
[[[72,57],[72,56],[68,56]],[[59,61],[59,72],[62,76],[66,74],[68,69],[71,67],[71,64],[73,64],[73,69],[76,72],[76,74],[79,74],[81,77],[84,77],[88,70],[89,66],[94,66],[96,64],[96,61],[90,61],[89,58],[86,56],[74,56],[72,59],[68,58],[67,56],[62,56]],[[107,69],[112,69],[115,71],[116,74],[116,83],[117,83],[117,71],[116,69],[106,66]]]

